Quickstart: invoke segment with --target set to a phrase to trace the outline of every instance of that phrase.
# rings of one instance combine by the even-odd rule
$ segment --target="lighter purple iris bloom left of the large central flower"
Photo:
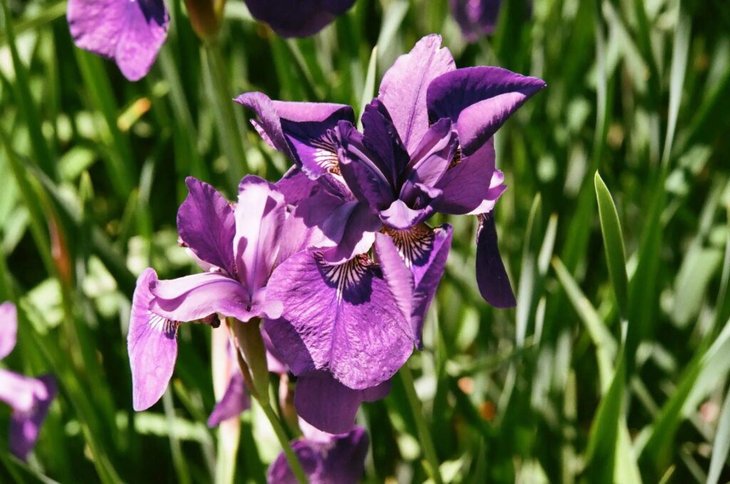
[[[249,175],[231,207],[207,183],[192,177],[186,183],[189,193],[177,212],[177,230],[206,272],[158,280],[150,268],[139,276],[127,337],[134,410],[151,407],[164,393],[177,359],[180,323],[218,323],[218,315],[245,322],[282,312],[266,283],[287,215],[283,194]]]

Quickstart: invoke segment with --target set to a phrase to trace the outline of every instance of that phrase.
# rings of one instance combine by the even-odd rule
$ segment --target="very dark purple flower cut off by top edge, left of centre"
[[[245,0],[251,15],[282,37],[316,34],[347,12],[355,0]]]

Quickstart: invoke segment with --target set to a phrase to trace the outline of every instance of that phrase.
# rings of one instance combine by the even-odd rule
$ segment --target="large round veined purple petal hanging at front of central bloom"
[[[296,254],[274,271],[269,291],[296,336],[281,321],[266,332],[293,372],[326,369],[350,388],[370,388],[412,353],[408,321],[380,267],[365,256],[327,264],[321,253]]]

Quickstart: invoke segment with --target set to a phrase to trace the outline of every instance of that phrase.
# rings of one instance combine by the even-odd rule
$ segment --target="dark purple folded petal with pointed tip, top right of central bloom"
[[[447,72],[431,82],[429,118],[450,118],[456,123],[461,150],[471,155],[530,97],[545,88],[545,81],[499,67],[466,67]]]

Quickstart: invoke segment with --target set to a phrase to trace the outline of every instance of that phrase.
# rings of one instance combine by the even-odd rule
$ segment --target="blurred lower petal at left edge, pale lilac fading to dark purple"
[[[8,402],[13,408],[9,423],[10,452],[24,461],[33,450],[50,404],[58,393],[55,379],[50,374],[27,378],[0,370],[0,387],[0,399],[4,400],[4,393],[12,392],[14,401]]]

